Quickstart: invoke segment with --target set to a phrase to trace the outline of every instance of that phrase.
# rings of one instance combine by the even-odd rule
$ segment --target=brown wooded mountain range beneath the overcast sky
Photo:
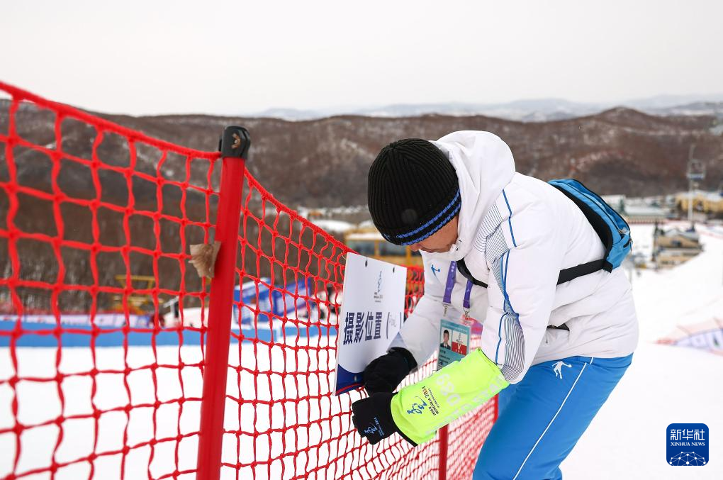
[[[0,100],[0,129],[7,122],[7,104],[7,100]],[[23,136],[39,145],[52,142],[54,119],[43,111],[26,110],[20,112],[23,117],[18,121],[25,129]],[[364,205],[367,170],[382,146],[406,137],[436,139],[463,129],[487,130],[502,137],[521,173],[543,180],[575,176],[602,194],[641,196],[686,189],[685,169],[692,144],[696,145],[695,157],[706,164],[703,187],[715,189],[723,181],[723,124],[713,116],[650,116],[625,108],[537,123],[437,115],[391,119],[334,116],[312,121],[203,115],[102,116],[200,150],[215,150],[226,125],[247,127],[252,136],[249,170],[291,207]],[[90,150],[92,129],[82,124],[64,125],[63,134],[64,148],[71,145],[80,155]],[[115,155],[112,140],[103,147],[108,157]],[[152,156],[144,158],[140,152],[139,168],[153,171]],[[32,166],[32,162],[27,163],[33,173],[20,173],[42,181],[40,177],[46,172]]]

